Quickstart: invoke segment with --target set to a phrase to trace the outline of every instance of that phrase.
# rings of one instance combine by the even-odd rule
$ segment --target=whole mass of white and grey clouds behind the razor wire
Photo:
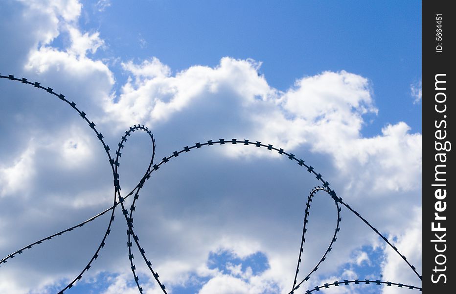
[[[109,1],[98,3],[104,9]],[[420,248],[410,244],[420,234],[418,208],[413,207],[419,203],[421,135],[410,133],[405,122],[385,125],[374,137],[362,135],[364,115],[381,111],[375,106],[368,78],[346,71],[323,72],[298,78],[290,89],[279,91],[258,73],[261,63],[251,59],[223,57],[215,67],[198,65],[173,73],[151,57],[121,63],[129,78],[116,96],[112,69],[92,56],[109,44],[99,32],[86,32],[78,26],[83,9],[78,1],[24,1],[19,8],[12,2],[4,5],[31,31],[23,36],[1,23],[7,43],[13,47],[21,44],[17,54],[11,54],[14,48],[0,49],[3,56],[14,56],[2,59],[2,66],[59,87],[56,91],[74,100],[97,123],[111,147],[125,128],[141,123],[154,132],[158,158],[185,145],[220,138],[262,140],[297,156],[302,154],[339,196],[350,204],[353,201],[352,207],[381,224],[379,229],[395,236],[397,247],[404,248],[403,253],[419,264]],[[68,36],[68,46],[52,46],[62,35]],[[11,208],[0,217],[0,234],[10,236],[0,243],[5,256],[109,207],[113,191],[104,149],[72,109],[46,93],[36,94],[32,87],[0,82],[5,89],[0,114],[12,124],[1,126],[5,129],[2,144],[9,142],[0,153],[1,206]],[[133,187],[141,168],[146,167],[150,142],[144,138],[135,134],[123,151],[122,191]],[[18,151],[15,145],[24,148]],[[183,153],[147,182],[135,212],[135,228],[146,252],[170,289],[192,279],[205,281],[198,289],[200,294],[289,289],[302,230],[303,195],[308,192],[303,187],[311,188],[318,182],[268,150],[235,145],[210,148],[214,149]],[[24,193],[36,196],[33,205],[21,197]],[[325,205],[334,203],[325,199],[314,200],[319,204],[312,212],[315,221],[309,231],[315,235],[308,238],[311,243],[306,245],[301,272],[311,268],[327,245],[326,237],[331,237],[321,236],[333,229],[333,222],[326,217],[330,221],[334,217]],[[366,207],[361,201],[372,205]],[[399,203],[399,208],[394,203]],[[87,276],[94,278],[101,270],[115,273],[106,294],[136,293],[123,255],[125,225],[118,219],[121,217],[116,217],[107,246],[95,263],[97,268]],[[85,266],[106,221],[93,222],[8,262],[0,269],[0,290],[27,293],[38,281],[40,289],[58,288]],[[14,232],[8,231],[10,225],[16,226]],[[362,233],[364,226],[355,218],[344,216],[342,226],[360,233],[345,231],[323,263],[321,275],[337,277],[334,280],[355,277],[350,270],[334,273],[346,263],[342,256],[353,256],[360,245],[377,242],[371,232]],[[261,274],[243,270],[236,263],[226,272],[208,268],[209,253],[221,248],[240,258],[263,252],[269,268]],[[410,280],[403,274],[405,270],[394,270],[400,266],[388,248],[385,250],[384,275],[390,273],[401,282],[402,278]],[[365,252],[356,252],[356,263],[369,263]],[[109,258],[103,259],[105,255]],[[28,272],[27,277],[18,274],[19,269]],[[139,260],[137,269],[145,282],[143,288],[157,293]],[[311,285],[320,281],[321,276],[315,277]]]

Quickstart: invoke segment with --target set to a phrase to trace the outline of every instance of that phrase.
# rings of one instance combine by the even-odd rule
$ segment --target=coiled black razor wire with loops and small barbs
[[[147,127],[145,127],[144,125],[139,125],[139,124],[136,125],[135,124],[135,125],[131,126],[128,130],[126,130],[125,134],[122,136],[121,141],[117,145],[118,148],[115,151],[115,159],[114,159],[113,156],[110,153],[110,150],[111,150],[110,147],[103,140],[103,135],[100,132],[98,132],[98,130],[95,128],[95,123],[91,122],[87,118],[87,114],[84,111],[81,111],[78,107],[76,107],[76,103],[74,103],[73,101],[70,102],[67,98],[65,98],[65,96],[63,94],[57,94],[56,92],[53,91],[52,88],[49,88],[49,87],[46,88],[46,87],[42,86],[40,83],[38,83],[38,82],[30,82],[26,78],[17,78],[14,75],[11,75],[11,74],[10,75],[1,75],[0,74],[0,78],[9,79],[9,80],[12,80],[12,81],[20,81],[20,82],[22,82],[24,84],[35,86],[36,88],[45,90],[46,92],[56,96],[57,98],[59,98],[60,100],[66,102],[69,106],[71,106],[75,111],[78,112],[78,114],[82,117],[82,119],[84,121],[86,121],[86,123],[88,123],[89,127],[93,130],[93,132],[95,132],[95,135],[100,140],[101,145],[103,145],[103,147],[104,147],[104,149],[106,151],[106,155],[108,156],[109,164],[110,164],[111,169],[113,171],[113,178],[114,178],[114,203],[113,203],[113,205],[111,207],[105,209],[104,211],[102,211],[99,214],[91,217],[90,219],[88,219],[86,221],[83,221],[83,222],[81,222],[79,224],[76,224],[76,225],[74,225],[74,226],[72,226],[72,227],[70,227],[70,228],[68,228],[66,230],[60,231],[58,233],[55,233],[53,235],[47,236],[47,237],[45,237],[43,239],[40,239],[40,240],[38,240],[36,242],[33,242],[33,243],[29,244],[29,245],[26,245],[26,246],[14,251],[13,253],[7,255],[6,257],[4,257],[3,259],[0,260],[0,266],[2,266],[8,260],[12,259],[16,255],[21,254],[23,251],[25,251],[27,249],[31,249],[35,245],[38,245],[38,244],[41,244],[41,243],[46,242],[48,240],[51,240],[54,237],[57,237],[57,236],[60,236],[60,235],[62,235],[64,233],[72,231],[73,229],[76,229],[78,227],[82,227],[86,223],[88,223],[90,221],[93,221],[93,220],[97,219],[98,217],[100,217],[100,216],[102,216],[102,215],[104,215],[104,214],[106,214],[106,213],[111,211],[111,218],[110,218],[110,220],[108,222],[108,227],[106,228],[106,231],[105,231],[105,233],[103,235],[102,241],[98,245],[98,247],[96,248],[95,253],[92,255],[91,259],[89,260],[87,265],[84,267],[84,269],[81,270],[81,272],[71,282],[69,282],[68,285],[65,286],[65,288],[63,288],[61,291],[59,291],[58,294],[63,294],[66,290],[68,290],[71,287],[73,287],[75,285],[75,283],[82,278],[83,274],[91,268],[92,262],[98,257],[99,252],[101,251],[101,249],[106,244],[105,241],[106,241],[109,233],[111,232],[111,225],[112,225],[112,223],[114,221],[114,211],[115,211],[115,208],[119,204],[120,204],[120,208],[122,210],[122,214],[123,214],[123,216],[125,218],[125,221],[127,223],[127,226],[128,226],[128,229],[127,229],[128,258],[130,260],[131,270],[132,270],[132,273],[133,273],[133,276],[134,276],[134,279],[135,279],[135,282],[136,282],[136,285],[137,285],[139,293],[142,294],[143,293],[143,289],[142,289],[142,287],[141,287],[141,285],[139,283],[139,278],[138,278],[137,273],[136,273],[136,266],[135,266],[135,263],[134,263],[134,256],[133,256],[133,253],[132,253],[133,243],[136,244],[136,246],[137,246],[137,248],[139,250],[139,253],[141,254],[142,259],[144,260],[144,262],[146,263],[146,265],[149,268],[150,272],[154,276],[154,279],[156,280],[156,282],[160,286],[162,292],[164,294],[167,294],[165,286],[163,285],[163,283],[160,282],[160,279],[159,279],[160,276],[159,276],[158,272],[156,272],[152,268],[152,263],[146,257],[145,250],[139,244],[139,238],[137,237],[137,234],[135,233],[135,231],[133,229],[133,213],[134,213],[135,208],[136,208],[136,201],[137,201],[137,199],[139,197],[139,191],[143,187],[145,181],[148,180],[151,177],[152,172],[156,172],[160,168],[161,165],[167,163],[168,161],[170,161],[173,158],[176,158],[176,157],[180,156],[182,153],[187,153],[187,152],[191,151],[192,149],[199,149],[199,148],[205,147],[205,146],[227,145],[227,144],[242,144],[242,145],[252,146],[252,147],[260,147],[260,148],[263,147],[263,148],[266,148],[266,149],[268,149],[270,151],[273,151],[273,150],[277,151],[280,155],[288,156],[288,159],[290,159],[292,161],[296,161],[296,163],[299,166],[305,168],[307,170],[307,172],[313,173],[315,175],[315,177],[317,178],[317,180],[319,180],[322,183],[321,187],[318,186],[318,187],[315,187],[314,189],[312,189],[312,191],[310,192],[310,195],[307,198],[306,209],[305,209],[305,212],[304,212],[304,227],[303,227],[303,230],[302,230],[301,246],[300,246],[299,256],[298,256],[298,260],[297,260],[296,273],[295,273],[295,278],[294,278],[292,290],[290,292],[288,292],[288,294],[297,293],[296,290],[302,285],[302,283],[304,283],[305,281],[309,280],[309,278],[312,275],[312,273],[314,273],[314,272],[316,272],[318,270],[319,265],[326,259],[326,255],[331,251],[333,244],[337,240],[337,234],[340,231],[340,223],[342,221],[341,214],[340,214],[342,209],[340,207],[340,204],[342,204],[348,210],[350,210],[352,213],[354,213],[360,220],[364,221],[367,226],[369,226],[391,248],[393,248],[394,251],[396,251],[396,253],[407,263],[407,265],[410,267],[411,270],[413,270],[413,272],[418,276],[418,278],[420,280],[422,279],[421,275],[416,271],[416,268],[413,265],[410,264],[410,262],[407,260],[407,258],[403,254],[401,254],[399,252],[399,250],[394,245],[392,245],[388,241],[388,239],[384,235],[382,235],[373,225],[371,225],[357,211],[355,211],[348,204],[346,204],[342,200],[342,197],[337,196],[336,192],[329,187],[329,183],[323,179],[323,177],[322,177],[322,175],[320,173],[317,173],[312,166],[307,165],[304,162],[304,160],[297,159],[294,154],[285,152],[285,150],[282,149],[282,148],[276,148],[276,147],[273,147],[270,144],[268,144],[268,145],[262,144],[259,141],[253,142],[253,141],[250,141],[248,139],[245,139],[245,140],[219,139],[219,140],[214,140],[214,141],[213,140],[208,140],[205,143],[198,142],[198,143],[195,143],[194,145],[192,145],[190,147],[189,146],[183,147],[182,150],[174,151],[171,155],[169,155],[167,157],[163,157],[161,159],[160,163],[154,164],[154,158],[155,158],[155,139],[154,139],[154,136],[152,135],[151,131]],[[122,155],[122,153],[120,151],[124,147],[124,144],[126,143],[128,137],[130,137],[131,134],[133,132],[137,131],[137,130],[144,131],[144,132],[146,132],[149,135],[149,137],[150,137],[150,139],[152,141],[152,157],[151,157],[151,160],[150,160],[150,163],[149,163],[149,167],[147,168],[147,171],[144,173],[144,175],[141,178],[141,180],[139,181],[139,183],[126,196],[122,197],[121,194],[120,194],[121,190],[120,190],[120,182],[119,182],[119,174],[118,174],[119,159],[120,159],[120,157]],[[310,204],[312,202],[313,197],[319,191],[326,192],[326,194],[328,194],[329,196],[331,196],[331,198],[333,198],[333,200],[334,200],[334,202],[336,204],[336,208],[337,208],[336,229],[334,231],[333,238],[332,238],[331,242],[329,243],[328,248],[324,252],[323,256],[321,257],[321,259],[319,260],[317,265],[301,281],[297,282],[297,274],[299,272],[299,266],[300,266],[300,263],[301,263],[301,257],[302,257],[302,254],[304,252],[305,234],[307,232],[307,222],[308,222],[307,218],[309,216],[309,210],[310,210],[310,206],[311,206]],[[129,196],[132,196],[132,195],[133,195],[133,201],[132,201],[132,204],[130,206],[130,209],[127,210],[125,208],[124,201],[125,201],[126,198],[128,198]],[[394,282],[381,281],[381,280],[375,280],[374,281],[374,280],[368,280],[368,279],[365,279],[365,280],[354,279],[354,280],[335,281],[335,282],[329,283],[329,284],[325,283],[324,285],[316,286],[316,287],[314,287],[312,289],[309,289],[309,290],[307,290],[305,292],[301,292],[301,293],[306,293],[307,294],[307,293],[312,293],[314,291],[317,292],[317,291],[320,291],[320,290],[323,290],[323,289],[326,289],[326,288],[329,288],[329,287],[337,287],[337,286],[349,285],[349,284],[354,284],[354,285],[359,285],[359,284],[365,284],[365,285],[387,285],[387,286],[396,286],[396,287],[399,287],[399,288],[408,288],[408,289],[412,289],[412,290],[416,289],[416,290],[422,291],[421,287],[412,286],[412,285],[406,285],[406,284],[401,284],[401,283],[394,283]]]

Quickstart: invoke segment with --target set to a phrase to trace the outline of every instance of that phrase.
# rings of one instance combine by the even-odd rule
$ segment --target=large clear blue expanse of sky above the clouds
[[[421,79],[418,1],[136,1],[104,13],[91,3],[81,25],[98,29],[109,44],[100,57],[152,54],[173,72],[213,67],[222,56],[252,58],[282,91],[302,76],[345,70],[368,77],[385,110],[365,135],[398,118],[421,132],[420,105],[410,105],[410,84]]]

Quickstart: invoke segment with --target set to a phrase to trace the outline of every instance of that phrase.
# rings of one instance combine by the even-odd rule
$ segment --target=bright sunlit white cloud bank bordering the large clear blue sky
[[[217,123],[229,124],[232,136],[262,138],[287,149],[307,145],[332,156],[337,168],[352,176],[347,189],[407,191],[419,184],[420,134],[410,134],[410,127],[399,122],[383,128],[382,135],[361,135],[362,115],[377,112],[366,78],[325,72],[304,77],[281,93],[258,76],[257,66],[249,60],[223,58],[216,68],[196,66],[170,76],[169,68],[156,58],[140,65],[129,62],[124,68],[136,82],[129,80],[119,101],[107,109],[125,126],[137,121],[154,126],[201,105],[195,119],[204,122],[212,109],[220,111],[228,120]],[[200,132],[208,128],[199,126]],[[252,150],[234,154],[248,153]],[[399,164],[404,158],[410,165]]]

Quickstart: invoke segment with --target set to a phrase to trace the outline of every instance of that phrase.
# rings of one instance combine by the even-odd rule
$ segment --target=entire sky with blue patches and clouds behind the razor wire
[[[220,138],[284,148],[420,270],[420,2],[8,0],[0,7],[7,44],[0,73],[63,93],[111,149],[137,123],[154,133],[159,159]],[[104,149],[74,110],[6,79],[0,89],[0,207],[11,208],[0,217],[0,234],[9,236],[0,241],[3,257],[106,209],[113,188]],[[123,193],[150,152],[148,136],[128,140]],[[135,229],[170,293],[290,291],[306,197],[321,184],[291,163],[265,148],[227,144],[182,153],[153,174]],[[99,259],[68,293],[137,293],[121,218],[117,211]],[[331,198],[318,194],[309,218],[301,275],[332,238]],[[342,220],[302,293],[354,278],[421,285],[347,209]],[[0,292],[58,292],[84,268],[107,221],[10,260],[0,268]],[[135,252],[145,293],[160,293]],[[341,288],[324,293],[404,292]]]

